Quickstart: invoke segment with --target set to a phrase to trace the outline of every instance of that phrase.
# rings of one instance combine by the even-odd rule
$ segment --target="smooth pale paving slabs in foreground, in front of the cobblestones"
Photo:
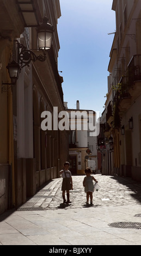
[[[128,215],[122,217],[123,212]],[[110,227],[141,212],[140,204],[97,208],[14,211],[0,220],[2,245],[140,245],[141,230]],[[126,216],[126,217],[125,217]],[[141,223],[138,217],[138,222]],[[12,229],[5,230],[3,224]]]

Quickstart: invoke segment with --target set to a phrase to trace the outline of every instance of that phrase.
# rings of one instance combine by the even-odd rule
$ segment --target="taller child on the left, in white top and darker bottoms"
[[[60,170],[60,174],[62,174],[62,197],[63,197],[63,203],[71,203],[70,202],[70,190],[73,190],[72,187],[72,176],[71,172],[69,170],[70,163],[65,162],[64,163],[64,169]],[[66,197],[67,201],[65,200],[65,191],[66,191]]]

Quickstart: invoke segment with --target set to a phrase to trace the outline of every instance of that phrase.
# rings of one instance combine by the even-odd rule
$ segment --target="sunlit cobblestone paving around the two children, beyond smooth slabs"
[[[93,207],[117,206],[141,204],[141,184],[131,178],[119,176],[105,176],[95,174],[99,181],[100,190],[93,193]],[[72,176],[73,190],[70,191],[71,204],[63,204],[62,199],[62,178],[54,179],[32,198],[23,204],[18,210],[35,209],[75,209],[88,207],[85,204],[86,194],[84,193],[82,176]]]

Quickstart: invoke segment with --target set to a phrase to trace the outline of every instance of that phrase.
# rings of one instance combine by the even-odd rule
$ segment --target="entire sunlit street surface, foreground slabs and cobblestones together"
[[[68,205],[62,204],[62,179],[54,179],[19,209],[0,215],[0,245],[141,245],[141,184],[94,176],[101,186],[94,206],[85,205],[84,176],[72,177]]]

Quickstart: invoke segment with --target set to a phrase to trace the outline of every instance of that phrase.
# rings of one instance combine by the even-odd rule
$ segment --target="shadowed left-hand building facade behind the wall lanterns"
[[[10,2],[10,4],[9,4]],[[59,0],[1,0],[0,17],[0,213],[18,207],[45,182],[58,178],[69,159],[68,131],[53,130],[53,107],[64,110],[57,59],[60,48],[57,23]],[[40,61],[36,27],[48,17],[54,27],[52,46]],[[20,51],[26,47],[32,50]],[[42,54],[43,55],[43,54]],[[36,56],[36,57],[35,57]],[[20,55],[21,57],[21,55]],[[8,63],[21,66],[16,84],[11,83]],[[23,65],[25,64],[25,65]],[[7,83],[7,84],[6,84]],[[9,83],[9,84],[8,84]],[[52,129],[41,129],[42,112],[52,115]]]

